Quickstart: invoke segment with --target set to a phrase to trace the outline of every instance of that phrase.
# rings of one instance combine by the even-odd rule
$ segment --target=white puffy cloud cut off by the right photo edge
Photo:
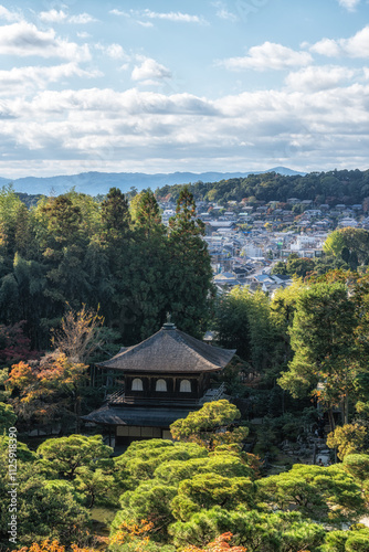
[[[349,39],[323,39],[313,44],[310,51],[327,57],[369,57],[369,25]]]

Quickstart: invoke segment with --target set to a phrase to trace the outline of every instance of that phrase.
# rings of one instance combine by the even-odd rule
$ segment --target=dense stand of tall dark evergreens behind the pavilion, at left
[[[183,191],[167,229],[151,192],[104,201],[71,191],[28,209],[0,191],[0,323],[23,321],[32,349],[50,348],[50,329],[70,308],[99,307],[125,346],[148,337],[168,311],[200,335],[211,285],[210,259]],[[186,265],[183,259],[186,258]]]

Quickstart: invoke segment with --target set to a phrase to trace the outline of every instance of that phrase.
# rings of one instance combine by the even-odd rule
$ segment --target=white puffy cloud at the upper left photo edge
[[[0,26],[0,55],[21,57],[36,55],[76,62],[91,59],[86,44],[80,46],[74,42],[57,38],[52,29],[40,31],[34,24],[25,21]]]

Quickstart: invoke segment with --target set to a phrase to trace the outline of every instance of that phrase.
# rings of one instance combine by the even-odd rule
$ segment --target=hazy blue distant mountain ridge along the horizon
[[[164,185],[187,184],[189,182],[219,182],[232,178],[247,177],[247,174],[261,174],[265,172],[278,172],[283,176],[305,174],[296,172],[285,167],[275,167],[266,171],[245,171],[245,172],[172,172],[169,174],[157,173],[147,174],[144,172],[82,172],[81,174],[59,176],[48,178],[25,177],[17,180],[0,178],[0,185],[12,182],[17,192],[29,194],[51,193],[59,195],[65,193],[75,187],[77,192],[89,195],[105,194],[109,188],[119,188],[123,192],[129,191],[131,187],[138,191],[145,188],[156,190]]]

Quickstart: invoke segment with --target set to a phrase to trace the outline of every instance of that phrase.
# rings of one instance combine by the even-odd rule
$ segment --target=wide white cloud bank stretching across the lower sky
[[[53,156],[54,171],[64,160],[64,172],[72,166],[81,172],[83,162],[89,170],[138,170],[143,163],[161,171],[188,164],[224,170],[231,163],[252,170],[263,159],[264,168],[321,170],[329,163],[348,168],[351,158],[360,167],[369,145],[368,94],[368,84],[217,100],[135,88],[40,91],[33,98],[1,102],[1,112],[15,118],[2,120],[0,144],[17,142],[8,148],[11,155],[34,162]]]

